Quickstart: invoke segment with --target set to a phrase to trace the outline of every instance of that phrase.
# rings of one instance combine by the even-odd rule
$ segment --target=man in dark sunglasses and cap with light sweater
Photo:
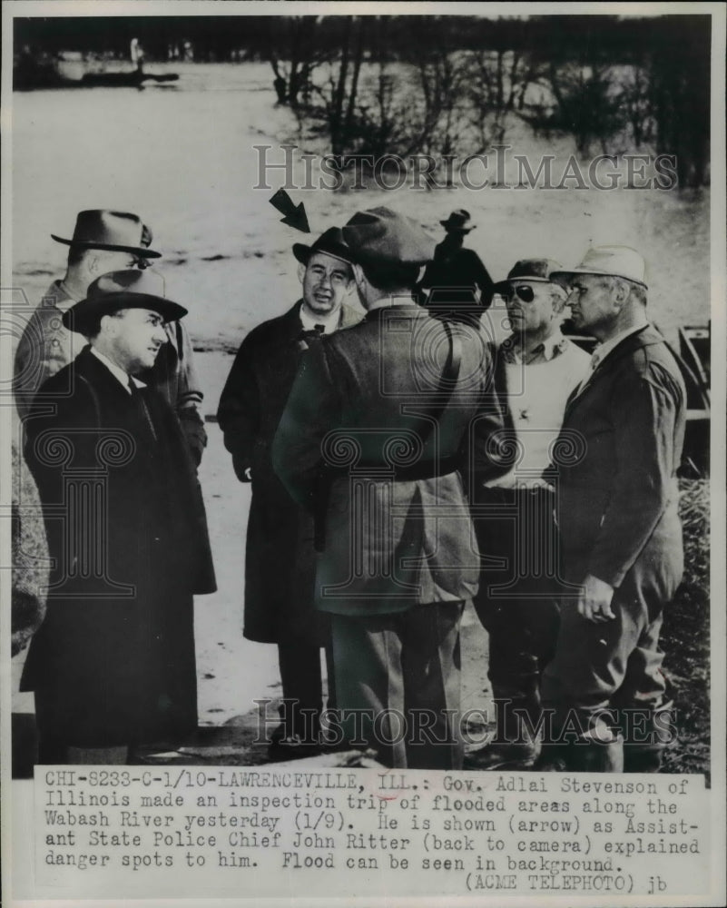
[[[470,768],[532,765],[540,678],[555,651],[562,590],[555,569],[553,492],[542,474],[565,401],[588,369],[588,355],[560,329],[565,291],[550,281],[556,267],[548,259],[516,262],[506,281],[494,286],[506,302],[512,330],[497,351],[495,371],[507,428],[503,458],[474,490],[483,555],[474,603],[489,634],[497,734],[467,756]]]

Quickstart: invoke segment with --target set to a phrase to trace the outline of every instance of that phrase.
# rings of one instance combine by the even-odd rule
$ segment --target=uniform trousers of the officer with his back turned
[[[395,768],[459,769],[462,602],[332,616],[336,696],[352,745]]]

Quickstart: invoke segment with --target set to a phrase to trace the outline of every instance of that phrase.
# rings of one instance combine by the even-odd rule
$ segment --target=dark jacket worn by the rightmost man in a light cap
[[[678,515],[682,376],[651,326],[612,350],[565,407],[555,442],[566,578],[668,602],[683,572]]]

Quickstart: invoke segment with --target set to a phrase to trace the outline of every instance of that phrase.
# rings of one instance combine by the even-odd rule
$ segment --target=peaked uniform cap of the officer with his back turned
[[[423,265],[434,257],[434,240],[416,221],[383,206],[356,212],[343,235],[361,264]]]

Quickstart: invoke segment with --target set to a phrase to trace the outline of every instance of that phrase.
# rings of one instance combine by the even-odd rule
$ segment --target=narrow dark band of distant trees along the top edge
[[[555,57],[593,54],[612,63],[639,60],[650,50],[668,52],[696,41],[710,46],[708,15],[619,18],[609,15],[549,15],[487,19],[481,16],[367,16],[377,27],[364,36],[365,54],[406,60],[421,34],[436,33],[462,50],[506,49]],[[16,18],[15,47],[30,44],[48,53],[62,50],[125,56],[138,38],[150,56],[166,59],[169,46],[191,41],[195,59],[230,62],[284,55],[307,19],[316,44],[345,41],[348,16],[96,16]]]

